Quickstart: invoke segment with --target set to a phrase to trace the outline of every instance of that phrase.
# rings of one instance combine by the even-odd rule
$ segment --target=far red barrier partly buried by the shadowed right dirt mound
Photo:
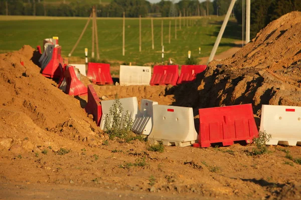
[[[207,65],[182,65],[178,84],[190,82],[196,79],[197,74],[207,68]]]

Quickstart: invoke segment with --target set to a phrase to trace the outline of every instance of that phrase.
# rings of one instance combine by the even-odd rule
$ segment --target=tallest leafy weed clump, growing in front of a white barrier
[[[105,116],[104,131],[109,135],[110,139],[119,137],[126,139],[129,137],[133,121],[128,110],[122,116],[123,107],[118,95],[115,94],[115,100],[109,109],[109,113]]]

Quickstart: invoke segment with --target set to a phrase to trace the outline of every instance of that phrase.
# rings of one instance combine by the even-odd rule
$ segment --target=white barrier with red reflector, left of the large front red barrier
[[[189,146],[197,142],[192,107],[154,105],[154,124],[148,136],[150,142],[164,145]]]

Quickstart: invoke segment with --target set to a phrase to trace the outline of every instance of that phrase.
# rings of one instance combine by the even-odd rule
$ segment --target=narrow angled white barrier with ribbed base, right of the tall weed
[[[157,105],[157,101],[142,99],[140,105],[140,113],[136,117],[132,131],[138,134],[149,135],[153,128],[153,105]]]

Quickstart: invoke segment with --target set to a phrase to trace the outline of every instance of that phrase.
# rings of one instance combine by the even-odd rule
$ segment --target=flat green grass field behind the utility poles
[[[12,19],[12,20],[11,20]],[[31,19],[31,20],[23,20]],[[223,16],[192,19],[193,25],[183,26],[175,39],[175,20],[172,20],[171,43],[169,44],[169,19],[164,19],[165,60],[171,57],[177,64],[184,64],[187,53],[191,50],[194,57],[209,56],[220,29]],[[78,39],[87,18],[60,18],[26,16],[0,16],[0,52],[20,49],[24,44],[33,47],[43,44],[44,38],[59,36],[62,55],[67,56]],[[154,18],[155,49],[152,49],[152,33],[149,18],[142,18],[142,51],[139,52],[139,20],[125,20],[125,56],[122,56],[122,19],[98,18],[98,39],[100,59],[110,62],[136,62],[136,64],[161,62],[161,18]],[[186,21],[187,24],[187,21]],[[84,48],[91,55],[92,25],[90,24],[72,56],[84,58]],[[235,46],[234,41],[241,38],[241,28],[235,19],[229,21],[219,52]],[[199,55],[199,47],[201,54]]]

